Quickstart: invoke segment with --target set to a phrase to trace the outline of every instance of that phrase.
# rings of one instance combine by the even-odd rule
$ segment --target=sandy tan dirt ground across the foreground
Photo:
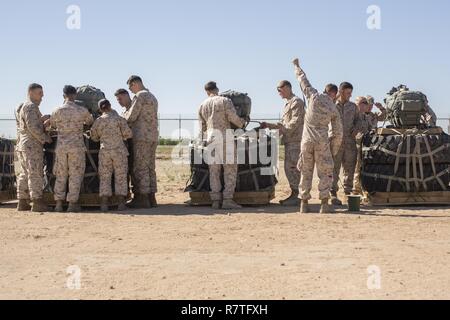
[[[1,206],[0,298],[450,299],[449,208],[214,212],[183,205],[188,174],[158,163],[155,209]],[[273,203],[287,194],[281,172]]]

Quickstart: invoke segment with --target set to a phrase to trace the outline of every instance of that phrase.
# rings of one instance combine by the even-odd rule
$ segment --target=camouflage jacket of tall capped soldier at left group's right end
[[[131,107],[123,116],[133,131],[133,141],[158,141],[158,100],[148,90],[134,96]]]

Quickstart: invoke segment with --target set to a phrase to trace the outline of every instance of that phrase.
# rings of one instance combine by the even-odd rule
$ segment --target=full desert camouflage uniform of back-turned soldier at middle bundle
[[[211,200],[220,201],[222,198],[223,200],[232,200],[236,189],[238,165],[236,152],[234,152],[234,139],[232,145],[227,145],[226,131],[231,129],[231,124],[242,128],[245,120],[236,114],[236,109],[230,99],[220,96],[209,97],[202,103],[199,109],[199,120],[202,134],[206,133],[207,135],[207,150],[214,156],[214,161],[207,159],[209,161]],[[230,152],[234,155],[233,159],[229,159]],[[220,179],[222,167],[225,183],[223,195]]]

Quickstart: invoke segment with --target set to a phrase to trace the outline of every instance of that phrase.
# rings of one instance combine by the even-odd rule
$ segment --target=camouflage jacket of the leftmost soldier
[[[33,147],[42,149],[47,134],[41,118],[42,113],[39,107],[31,101],[25,102],[16,109],[17,151],[25,151]]]

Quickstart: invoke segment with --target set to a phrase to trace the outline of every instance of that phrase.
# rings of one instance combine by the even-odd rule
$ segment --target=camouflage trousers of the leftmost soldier
[[[44,189],[44,150],[18,151],[20,174],[17,177],[17,199],[41,199]]]

